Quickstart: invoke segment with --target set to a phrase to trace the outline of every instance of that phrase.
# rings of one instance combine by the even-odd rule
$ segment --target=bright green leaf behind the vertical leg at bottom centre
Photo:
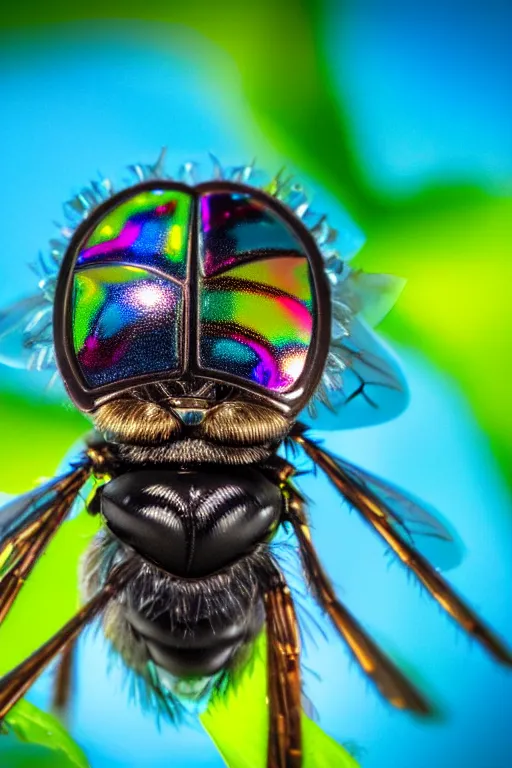
[[[205,730],[229,768],[266,768],[268,704],[266,637],[228,691],[201,716]],[[358,768],[354,758],[317,723],[302,715],[303,768]]]

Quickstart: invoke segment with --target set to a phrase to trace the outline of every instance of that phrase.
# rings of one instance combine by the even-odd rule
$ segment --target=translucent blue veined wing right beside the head
[[[398,361],[361,318],[354,318],[348,336],[333,340],[331,349],[343,367],[331,374],[334,386],[320,385],[312,407],[300,419],[314,429],[366,427],[398,416],[409,402]]]

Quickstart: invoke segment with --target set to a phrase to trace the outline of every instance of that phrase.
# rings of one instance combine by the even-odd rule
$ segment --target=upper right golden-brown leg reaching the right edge
[[[306,454],[317,464],[363,518],[384,539],[402,563],[409,568],[432,597],[502,664],[512,666],[512,652],[482,619],[457,595],[440,573],[392,526],[385,505],[368,488],[354,482],[336,459],[303,433],[293,435]]]

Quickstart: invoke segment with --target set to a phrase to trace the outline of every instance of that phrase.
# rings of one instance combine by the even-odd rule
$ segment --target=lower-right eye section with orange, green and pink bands
[[[304,370],[312,305],[305,258],[254,261],[204,280],[201,365],[287,391]]]

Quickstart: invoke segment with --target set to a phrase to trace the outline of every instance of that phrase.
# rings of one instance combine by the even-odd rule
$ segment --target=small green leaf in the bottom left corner
[[[0,764],[6,768],[89,768],[80,747],[52,715],[20,701],[0,736]]]

